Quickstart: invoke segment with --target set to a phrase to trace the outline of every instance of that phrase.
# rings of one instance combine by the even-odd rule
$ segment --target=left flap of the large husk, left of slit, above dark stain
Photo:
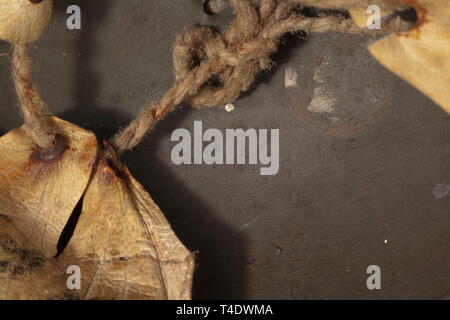
[[[97,156],[92,133],[51,120],[66,147],[50,161],[40,159],[24,126],[0,138],[0,214],[8,216],[45,257],[56,255],[58,239],[86,189]]]

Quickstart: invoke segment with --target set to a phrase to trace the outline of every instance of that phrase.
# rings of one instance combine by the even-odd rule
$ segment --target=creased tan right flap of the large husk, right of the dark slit
[[[142,186],[102,157],[66,251],[83,299],[190,299],[194,258]]]

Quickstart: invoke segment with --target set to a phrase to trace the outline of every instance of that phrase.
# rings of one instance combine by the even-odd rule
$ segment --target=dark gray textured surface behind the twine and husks
[[[56,1],[52,24],[33,45],[34,78],[51,110],[109,137],[169,88],[178,32],[224,25],[227,15],[207,16],[200,2]],[[77,32],[65,28],[74,3],[82,8]],[[449,116],[375,63],[366,42],[289,37],[277,68],[234,112],[180,109],[124,157],[199,251],[195,298],[436,299],[450,291],[450,196],[433,193],[450,184]],[[297,70],[298,88],[284,88],[286,67]],[[21,123],[8,68],[0,57],[2,134]],[[335,110],[305,120],[299,110],[317,86],[334,97]],[[375,113],[357,134],[326,134],[331,122]],[[205,128],[279,128],[279,174],[173,165],[170,134],[194,120]],[[371,264],[382,269],[380,291],[366,288]]]

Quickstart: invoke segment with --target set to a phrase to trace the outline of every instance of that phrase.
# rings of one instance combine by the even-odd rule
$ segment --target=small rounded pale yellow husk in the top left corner
[[[0,0],[0,39],[23,44],[39,39],[52,16],[53,0]]]

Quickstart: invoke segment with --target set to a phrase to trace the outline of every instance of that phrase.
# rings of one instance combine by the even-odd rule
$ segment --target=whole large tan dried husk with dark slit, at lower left
[[[0,299],[190,299],[193,254],[150,195],[107,143],[52,120],[67,147],[51,160],[23,127],[0,138]],[[80,290],[67,287],[73,265]]]

